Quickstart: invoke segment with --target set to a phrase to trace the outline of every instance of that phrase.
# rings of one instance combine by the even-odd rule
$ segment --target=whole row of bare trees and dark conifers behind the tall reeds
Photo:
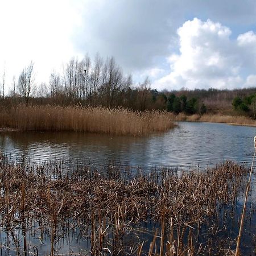
[[[0,82],[2,104],[51,104],[124,107],[133,110],[167,110],[175,113],[204,113],[206,107],[199,97],[175,96],[171,92],[151,89],[148,77],[134,84],[125,75],[114,57],[105,60],[96,55],[82,60],[73,57],[63,65],[63,71],[53,71],[49,81],[35,84],[34,63],[24,68],[10,93],[5,95],[5,74]]]

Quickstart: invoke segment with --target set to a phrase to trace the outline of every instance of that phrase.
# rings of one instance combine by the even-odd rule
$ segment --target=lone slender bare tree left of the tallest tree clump
[[[21,97],[28,104],[32,87],[34,86],[33,78],[34,63],[30,63],[27,68],[24,68],[19,75],[18,90]]]

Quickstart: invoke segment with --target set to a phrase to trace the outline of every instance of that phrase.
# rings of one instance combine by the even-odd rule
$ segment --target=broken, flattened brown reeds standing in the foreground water
[[[69,245],[76,237],[76,255],[232,255],[236,235],[217,234],[225,218],[234,219],[246,168],[226,162],[184,173],[70,164],[2,158],[1,250],[38,255],[48,241],[45,254],[71,254],[64,239]]]

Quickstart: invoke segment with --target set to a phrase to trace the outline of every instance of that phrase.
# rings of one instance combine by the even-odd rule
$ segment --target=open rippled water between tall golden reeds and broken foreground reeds
[[[167,133],[128,137],[84,133],[5,133],[5,154],[36,160],[73,158],[92,164],[121,160],[126,166],[212,166],[223,160],[251,162],[254,127],[220,123],[179,122]]]

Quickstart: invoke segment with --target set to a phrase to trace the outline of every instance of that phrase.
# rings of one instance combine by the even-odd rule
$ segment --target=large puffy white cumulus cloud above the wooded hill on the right
[[[153,86],[195,89],[255,85],[251,73],[256,72],[256,35],[249,31],[232,40],[231,34],[228,27],[209,19],[188,20],[177,30],[180,54],[167,58],[171,72]],[[248,72],[253,76],[246,80]]]

